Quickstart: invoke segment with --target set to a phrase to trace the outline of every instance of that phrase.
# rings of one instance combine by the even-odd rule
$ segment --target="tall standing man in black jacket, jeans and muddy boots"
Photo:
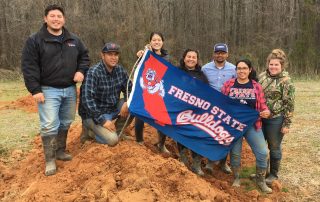
[[[25,85],[38,104],[48,176],[56,173],[56,159],[72,159],[65,149],[76,112],[75,84],[82,82],[89,56],[80,39],[64,28],[62,7],[49,5],[44,21],[42,28],[27,39],[21,66]]]

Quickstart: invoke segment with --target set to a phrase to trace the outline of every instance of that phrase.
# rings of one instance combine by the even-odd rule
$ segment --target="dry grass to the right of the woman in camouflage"
[[[296,81],[295,85],[295,113],[283,140],[280,180],[299,201],[315,201],[320,197],[320,82]]]

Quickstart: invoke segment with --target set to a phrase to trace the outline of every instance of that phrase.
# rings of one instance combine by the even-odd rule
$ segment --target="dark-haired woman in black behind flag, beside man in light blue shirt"
[[[182,55],[182,58],[180,60],[180,69],[184,70],[187,74],[192,76],[195,79],[199,79],[200,81],[203,81],[204,83],[208,84],[208,79],[204,75],[204,73],[201,71],[201,66],[199,65],[199,52],[197,50],[193,49],[186,49]],[[178,150],[180,154],[180,161],[183,162],[185,165],[188,164],[188,158],[187,158],[187,148],[177,142]],[[192,171],[196,173],[197,175],[203,176],[204,173],[201,169],[201,158],[199,154],[192,151]]]

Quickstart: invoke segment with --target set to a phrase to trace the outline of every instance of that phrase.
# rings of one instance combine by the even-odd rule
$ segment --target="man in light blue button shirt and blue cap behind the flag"
[[[225,43],[217,43],[213,47],[213,60],[202,67],[203,73],[209,81],[209,85],[221,92],[221,88],[227,80],[236,77],[236,66],[227,61],[229,57],[228,46]],[[206,169],[213,172],[213,163],[209,161]],[[227,164],[227,157],[220,161],[220,168],[225,173],[231,173],[231,169]]]

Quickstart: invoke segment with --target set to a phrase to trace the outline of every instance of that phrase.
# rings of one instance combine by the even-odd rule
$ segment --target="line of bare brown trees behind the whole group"
[[[19,69],[25,40],[50,3],[65,8],[66,27],[88,47],[92,64],[114,41],[131,68],[149,34],[159,31],[176,65],[186,48],[199,50],[204,64],[213,44],[225,42],[231,62],[247,57],[262,71],[268,53],[282,48],[292,74],[319,75],[320,0],[0,0],[0,68]]]

